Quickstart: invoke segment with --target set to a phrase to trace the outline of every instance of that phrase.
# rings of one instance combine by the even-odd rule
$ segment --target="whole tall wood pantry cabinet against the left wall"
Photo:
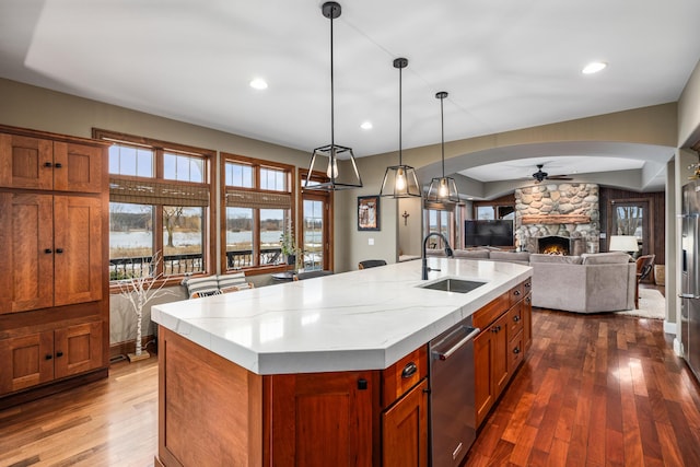
[[[0,408],[107,375],[107,148],[0,126]]]

